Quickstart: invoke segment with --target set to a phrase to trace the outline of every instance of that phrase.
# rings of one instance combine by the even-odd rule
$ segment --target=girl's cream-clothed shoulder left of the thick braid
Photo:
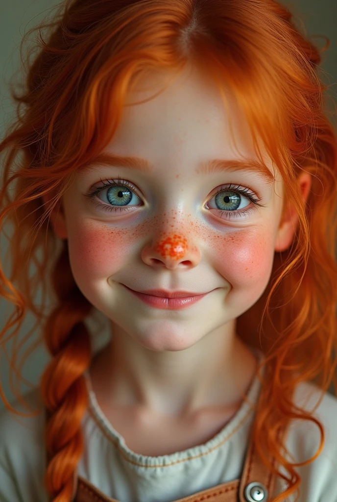
[[[0,412],[0,500],[46,502],[44,446],[45,414],[39,389],[24,396],[33,417],[22,417],[6,408]],[[30,413],[17,400],[11,405]]]

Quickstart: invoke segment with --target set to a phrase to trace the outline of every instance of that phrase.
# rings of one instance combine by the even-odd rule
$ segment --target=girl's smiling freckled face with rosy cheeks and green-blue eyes
[[[165,80],[149,83],[149,92],[127,102],[152,96]],[[124,108],[104,151],[146,159],[147,167],[98,161],[82,170],[55,220],[84,296],[151,350],[181,350],[216,330],[235,330],[235,319],[267,286],[275,249],[291,242],[279,233],[279,173],[273,183],[271,162],[267,173],[253,168],[248,124],[228,97],[241,156],[218,90],[197,71],[183,74],[161,95]],[[226,165],[207,172],[213,159]],[[248,167],[237,164],[247,159]],[[95,187],[103,190],[89,197]],[[188,308],[162,309],[128,288],[208,295]]]

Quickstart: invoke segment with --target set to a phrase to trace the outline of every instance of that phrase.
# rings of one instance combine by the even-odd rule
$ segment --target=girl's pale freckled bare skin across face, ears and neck
[[[165,83],[165,74],[148,77],[150,90],[142,87],[127,102],[152,96]],[[240,156],[256,159],[247,121],[228,97]],[[239,158],[220,94],[197,70],[184,72],[150,101],[124,108],[105,152],[145,158],[152,172],[100,165],[83,170],[51,221],[68,239],[78,287],[111,320],[112,341],[90,368],[99,405],[134,451],[170,453],[212,437],[241,405],[257,361],[236,337],[236,318],[262,295],[274,253],[290,245],[297,217],[285,201],[280,224],[283,183],[271,161],[276,181],[269,186],[257,172],[196,174],[201,162]],[[97,207],[112,205],[108,189],[85,196],[102,185],[100,178],[118,182],[118,176],[136,189],[125,203],[130,210]],[[264,207],[246,217],[221,216],[214,195],[231,183],[249,188]],[[303,173],[298,183],[304,201],[310,176]],[[241,200],[240,209],[254,206]],[[211,293],[184,310],[162,310],[123,285]],[[172,430],[165,429],[167,444],[164,422]]]

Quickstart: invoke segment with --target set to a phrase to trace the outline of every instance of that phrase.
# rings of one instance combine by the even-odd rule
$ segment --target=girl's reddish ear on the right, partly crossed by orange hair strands
[[[305,204],[311,187],[311,175],[309,173],[302,173],[298,177],[297,183],[302,193],[303,204]],[[288,204],[285,208],[280,226],[278,228],[275,241],[275,251],[285,251],[288,249],[293,241],[297,222],[298,216],[295,207],[292,204]]]

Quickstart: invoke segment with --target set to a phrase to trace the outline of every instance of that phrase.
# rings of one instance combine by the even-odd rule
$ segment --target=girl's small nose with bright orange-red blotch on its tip
[[[141,252],[141,258],[151,267],[194,268],[201,260],[200,250],[192,245],[181,233],[163,233],[147,243]]]

